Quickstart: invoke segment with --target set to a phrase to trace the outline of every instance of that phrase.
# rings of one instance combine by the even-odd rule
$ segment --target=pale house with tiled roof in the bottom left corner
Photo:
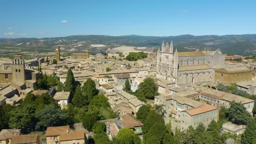
[[[14,135],[20,135],[21,129],[2,129],[0,132],[0,143],[10,144],[11,138]]]

